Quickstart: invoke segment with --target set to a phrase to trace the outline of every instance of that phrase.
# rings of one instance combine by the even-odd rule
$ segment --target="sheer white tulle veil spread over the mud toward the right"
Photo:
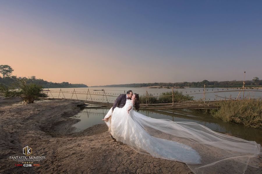
[[[107,115],[111,115],[111,111]],[[118,114],[117,112],[112,114]],[[107,117],[107,116],[106,116]],[[123,118],[123,115],[121,116]],[[175,160],[184,162],[194,173],[245,173],[249,167],[259,167],[257,161],[258,155],[261,155],[261,145],[255,141],[247,141],[237,137],[217,133],[210,130],[206,126],[194,122],[173,122],[169,119],[154,119],[147,117],[136,111],[130,112],[130,124],[141,128],[145,131],[144,139],[148,144],[153,144],[154,150],[145,150],[146,148],[137,145],[132,140],[126,143],[135,151],[154,157],[160,157],[167,160],[174,160],[169,155],[161,155],[156,153],[157,149],[162,151],[173,151],[174,146],[170,146],[167,140],[178,142],[193,148],[201,157],[200,163],[192,156],[189,160]],[[107,123],[109,126],[110,120]],[[110,131],[110,126],[109,126]],[[132,131],[132,130],[131,130]],[[164,139],[167,144],[150,142],[151,137]],[[153,141],[153,140],[152,140]],[[155,143],[155,144],[154,144]],[[149,147],[149,146],[148,146]],[[152,146],[150,146],[152,147]],[[159,155],[160,154],[160,155]],[[163,153],[164,154],[164,153]],[[190,154],[190,153],[189,153]],[[185,155],[187,155],[185,153]],[[195,163],[192,161],[196,161]],[[257,170],[257,169],[256,169]]]

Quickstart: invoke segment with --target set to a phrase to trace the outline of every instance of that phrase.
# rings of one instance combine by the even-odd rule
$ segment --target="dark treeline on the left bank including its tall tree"
[[[9,65],[0,65],[0,84],[8,87],[12,86],[12,84],[17,82],[17,79],[21,80],[24,79],[27,84],[33,83],[41,85],[43,88],[86,88],[88,87],[85,84],[71,84],[69,82],[62,82],[62,83],[53,83],[43,79],[36,79],[36,76],[31,76],[29,78],[26,77],[17,77],[12,75],[13,68]]]

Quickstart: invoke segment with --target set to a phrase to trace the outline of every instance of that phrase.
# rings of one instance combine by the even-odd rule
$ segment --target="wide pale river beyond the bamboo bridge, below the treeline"
[[[92,94],[91,97],[90,95],[87,95],[87,91],[90,91]],[[105,95],[106,96],[100,96],[103,95],[102,89],[105,90]],[[174,89],[182,92],[183,94],[188,94],[190,96],[194,97],[194,100],[199,100],[203,98],[203,89],[204,88],[179,88],[179,89]],[[47,90],[47,89],[44,89]],[[109,103],[114,103],[114,100],[116,97],[120,94],[123,94],[124,92],[128,90],[132,90],[133,93],[137,93],[140,96],[145,94],[146,91],[149,94],[152,94],[153,96],[159,96],[163,92],[169,92],[172,91],[172,89],[167,89],[167,88],[75,88],[75,92],[77,94],[72,94],[74,92],[74,88],[61,88],[63,91],[59,91],[60,88],[49,88],[49,90],[52,92],[51,94],[48,93],[49,97],[54,97],[54,98],[71,98],[72,99],[82,99],[82,100],[92,100],[97,101],[97,102],[109,102]],[[100,91],[97,91],[100,90]],[[240,89],[232,89],[232,88],[205,88],[205,98],[206,100],[219,100],[219,99],[224,99],[222,97],[226,98],[232,98],[235,99],[238,94],[239,94]],[[244,97],[245,98],[257,98],[257,97],[262,97],[262,89],[245,89]],[[247,91],[248,90],[248,91]],[[81,94],[80,94],[81,93]],[[93,95],[94,94],[94,95]],[[99,94],[99,95],[95,95]],[[111,96],[108,96],[111,95]],[[216,96],[217,95],[217,96]],[[112,97],[115,96],[115,97]],[[239,98],[241,99],[243,97],[243,93],[241,92],[239,95]]]

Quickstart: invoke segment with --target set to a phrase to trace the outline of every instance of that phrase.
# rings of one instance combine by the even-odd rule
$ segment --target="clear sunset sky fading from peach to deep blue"
[[[0,64],[88,86],[262,79],[262,1],[3,1]]]

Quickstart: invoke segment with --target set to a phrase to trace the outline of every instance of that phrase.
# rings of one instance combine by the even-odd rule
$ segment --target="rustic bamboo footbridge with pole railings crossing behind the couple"
[[[244,91],[249,91],[249,90],[245,90],[245,82],[243,81],[243,86],[240,90],[238,90],[238,96],[235,98],[235,99],[231,99],[231,98],[226,98],[226,97],[220,97],[220,96],[217,96],[217,97],[220,97],[220,98],[223,98],[224,100],[231,100],[231,101],[241,101],[241,97],[240,99],[238,99],[240,93],[242,92],[243,93],[243,98],[244,99]],[[232,90],[228,90],[227,91],[212,91],[211,92],[206,92],[206,85],[204,85],[204,89],[203,89],[203,93],[194,93],[194,94],[203,94],[203,98],[200,100],[200,101],[183,101],[183,102],[174,102],[174,96],[176,96],[174,94],[174,88],[172,88],[172,95],[161,95],[161,96],[151,96],[148,94],[147,90],[146,90],[146,95],[145,96],[141,96],[140,98],[144,97],[146,98],[146,104],[140,104],[140,109],[142,110],[161,110],[161,109],[218,109],[219,108],[219,102],[223,101],[223,100],[215,100],[215,101],[210,101],[209,100],[206,100],[206,97],[205,97],[205,94],[206,93],[220,93],[220,92],[232,92]],[[82,91],[82,92],[76,92],[75,89],[74,91],[70,92],[70,91],[63,91],[61,88],[60,88],[60,91],[51,91],[49,90],[43,90],[43,91],[47,91],[47,96],[48,96],[48,93],[50,93],[52,95],[52,93],[59,93],[58,97],[55,98],[53,95],[52,97],[53,98],[49,98],[49,97],[40,97],[40,99],[44,99],[44,100],[73,100],[73,101],[83,101],[84,103],[88,103],[88,104],[94,104],[94,105],[97,105],[97,106],[104,106],[104,107],[109,107],[111,108],[113,106],[113,103],[109,103],[109,102],[114,102],[114,100],[109,100],[107,99],[107,97],[118,97],[116,96],[116,94],[113,93],[113,95],[111,95],[111,93],[105,93],[105,90],[102,89],[100,90],[102,92],[102,94],[100,93],[91,93],[89,91],[89,88],[87,91]],[[95,90],[95,91],[98,91],[98,90]],[[200,92],[200,90],[199,90]],[[234,90],[234,92],[236,92],[236,90]],[[260,90],[258,90],[258,92],[262,92]],[[69,93],[69,94],[72,94],[71,98],[66,98],[64,93]],[[125,91],[124,91],[125,93]],[[59,98],[60,94],[63,94],[63,97],[64,98]],[[75,94],[76,98],[77,99],[72,99],[73,95]],[[86,95],[86,99],[83,100],[83,99],[78,99],[77,97],[77,94],[80,94],[80,95]],[[90,96],[90,98],[88,98],[88,95]],[[101,100],[102,102],[98,102],[98,101],[93,101],[91,95],[95,95],[95,96],[101,96],[102,99],[96,99],[96,100]],[[117,94],[118,95],[118,94]],[[181,94],[179,94],[181,95]],[[171,97],[172,96],[172,103],[157,103],[157,104],[150,104],[149,103],[149,99],[151,97]],[[91,99],[90,100],[87,100],[87,99]],[[107,102],[104,102],[104,101],[107,101]]]

